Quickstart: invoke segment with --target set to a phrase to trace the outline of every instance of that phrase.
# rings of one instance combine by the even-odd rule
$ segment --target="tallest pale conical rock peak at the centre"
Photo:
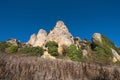
[[[62,46],[70,46],[74,43],[73,36],[68,31],[66,25],[62,21],[58,21],[52,31],[48,34],[47,41],[55,41],[58,43],[58,52],[62,53]]]

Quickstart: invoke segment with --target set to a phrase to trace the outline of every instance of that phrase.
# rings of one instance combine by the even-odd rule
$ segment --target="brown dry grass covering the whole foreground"
[[[120,80],[120,66],[0,54],[0,80]]]

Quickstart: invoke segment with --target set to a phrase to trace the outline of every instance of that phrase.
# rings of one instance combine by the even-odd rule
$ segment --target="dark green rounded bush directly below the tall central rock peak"
[[[45,47],[48,47],[48,53],[52,56],[59,56],[58,53],[58,44],[54,41],[49,41],[46,43]]]

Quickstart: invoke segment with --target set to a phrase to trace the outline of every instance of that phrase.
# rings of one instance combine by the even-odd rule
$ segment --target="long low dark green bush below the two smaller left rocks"
[[[32,54],[32,55],[41,56],[44,53],[44,49],[42,47],[26,47],[26,48],[21,48],[19,52],[23,54]]]

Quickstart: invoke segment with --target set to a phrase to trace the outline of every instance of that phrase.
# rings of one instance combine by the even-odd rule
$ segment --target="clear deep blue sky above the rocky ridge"
[[[63,20],[73,36],[102,33],[120,46],[120,0],[0,0],[0,41],[26,42]]]

